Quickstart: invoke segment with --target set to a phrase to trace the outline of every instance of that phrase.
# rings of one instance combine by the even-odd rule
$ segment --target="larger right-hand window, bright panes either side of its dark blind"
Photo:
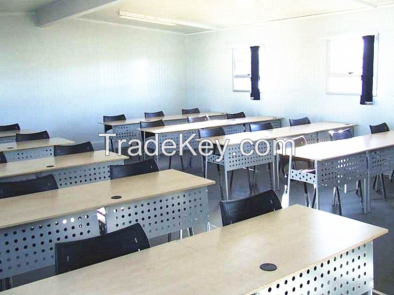
[[[373,95],[377,91],[378,42],[375,37]],[[362,37],[328,40],[328,94],[361,95]]]

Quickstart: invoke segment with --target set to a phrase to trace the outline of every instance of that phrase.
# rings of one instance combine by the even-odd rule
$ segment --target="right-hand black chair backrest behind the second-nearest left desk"
[[[109,166],[109,175],[111,179],[129,177],[129,176],[158,172],[158,171],[159,171],[159,167],[157,166],[155,160],[153,159],[132,163],[132,164]]]

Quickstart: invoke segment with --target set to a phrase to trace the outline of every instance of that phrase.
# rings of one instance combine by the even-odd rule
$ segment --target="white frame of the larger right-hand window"
[[[356,36],[348,36],[348,37],[356,37]],[[362,36],[360,36],[362,38]],[[349,77],[349,74],[347,73],[336,73],[336,74],[330,74],[330,50],[329,50],[329,45],[330,42],[333,41],[333,39],[328,39],[327,40],[327,73],[326,73],[326,94],[327,95],[350,95],[350,96],[361,96],[361,89],[360,93],[350,93],[350,92],[329,92],[328,91],[328,79],[330,77]],[[375,34],[375,42],[374,42],[374,56],[373,56],[373,96],[377,96],[377,89],[378,89],[378,56],[379,56],[379,34]],[[360,74],[360,80],[361,80],[361,75]],[[356,75],[353,75],[356,76]]]

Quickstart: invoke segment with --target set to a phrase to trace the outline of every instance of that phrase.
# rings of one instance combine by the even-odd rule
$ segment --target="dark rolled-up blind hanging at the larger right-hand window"
[[[373,55],[375,36],[363,36],[364,54],[362,57],[362,90],[360,104],[373,104]]]

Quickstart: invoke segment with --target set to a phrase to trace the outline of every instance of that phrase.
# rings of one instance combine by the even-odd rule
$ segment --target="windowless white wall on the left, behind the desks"
[[[102,143],[103,115],[178,114],[186,97],[184,35],[67,20],[34,27],[0,17],[0,125]]]

